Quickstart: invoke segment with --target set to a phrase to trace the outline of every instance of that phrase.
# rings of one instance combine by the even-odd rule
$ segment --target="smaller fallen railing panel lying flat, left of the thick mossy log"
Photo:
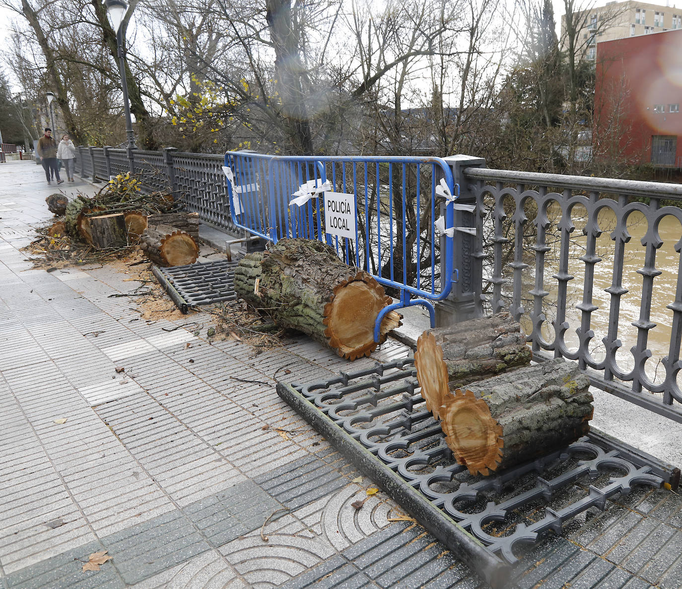
[[[155,266],[152,271],[175,305],[187,313],[192,305],[236,299],[235,267],[238,263],[239,260],[220,260],[170,268]]]

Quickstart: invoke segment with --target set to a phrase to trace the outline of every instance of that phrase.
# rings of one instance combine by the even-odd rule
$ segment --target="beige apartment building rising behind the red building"
[[[576,57],[594,60],[597,43],[636,37],[649,33],[682,29],[682,7],[658,5],[627,0],[608,2],[576,13],[579,34],[576,39]],[[562,50],[566,45],[566,16],[561,17]]]

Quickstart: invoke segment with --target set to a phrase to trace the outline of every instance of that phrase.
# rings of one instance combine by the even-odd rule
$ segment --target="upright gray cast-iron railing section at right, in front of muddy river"
[[[682,422],[682,208],[677,206],[682,185],[483,165],[483,160],[463,158],[455,178],[462,188],[460,202],[476,207],[457,224],[469,224],[477,235],[462,235],[455,245],[469,264],[460,266],[451,314],[464,318],[508,309],[530,334],[537,359],[576,360],[595,386]],[[664,244],[659,228],[666,217],[679,222],[672,245],[674,292],[657,288],[662,273],[657,251]],[[626,247],[635,223],[643,233],[641,247],[634,240]],[[644,249],[641,265],[625,257],[634,248]],[[568,286],[576,277],[582,284],[572,299]],[[595,289],[607,293],[608,305],[599,307],[595,293],[601,293]],[[666,303],[672,314],[666,350],[649,346],[650,332],[657,328],[651,320],[653,299],[658,308]],[[636,334],[627,352],[620,338],[629,324]],[[667,325],[658,328],[667,333]],[[654,352],[662,357],[658,372],[647,364]]]

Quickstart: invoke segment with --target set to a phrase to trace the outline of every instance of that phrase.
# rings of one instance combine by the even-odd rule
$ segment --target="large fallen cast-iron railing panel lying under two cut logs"
[[[278,392],[290,402],[286,388],[280,385]],[[654,467],[625,459],[598,434],[496,476],[472,476],[454,460],[426,410],[413,358],[293,384],[290,391],[509,564],[516,562],[517,549],[549,530],[561,533],[564,522],[587,509],[604,511],[609,498],[628,494],[634,485],[664,483]]]

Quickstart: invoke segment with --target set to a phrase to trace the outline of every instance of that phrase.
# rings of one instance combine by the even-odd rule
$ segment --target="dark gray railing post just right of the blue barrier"
[[[455,183],[460,185],[456,205],[476,205],[476,196],[464,177],[464,168],[485,168],[486,160],[471,155],[451,155],[443,158],[452,168]],[[455,209],[455,226],[476,228],[476,213]],[[479,316],[478,297],[483,288],[483,252],[481,235],[455,231],[453,265],[458,281],[448,297],[436,305],[436,327],[451,325]]]

